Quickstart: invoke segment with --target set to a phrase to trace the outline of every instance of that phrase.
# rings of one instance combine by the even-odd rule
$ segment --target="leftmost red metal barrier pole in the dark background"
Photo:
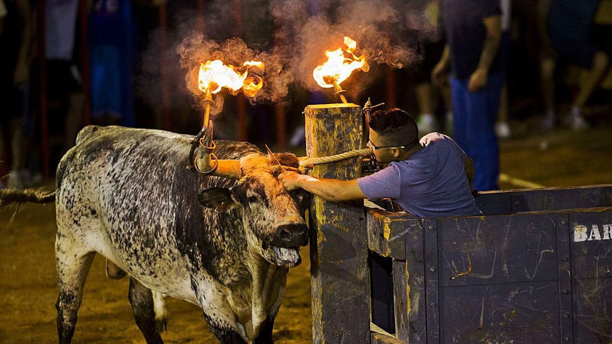
[[[45,65],[45,0],[37,3],[37,36],[39,58],[39,114],[40,114],[40,145],[42,150],[42,173],[49,177],[49,132],[47,122],[47,69]]]

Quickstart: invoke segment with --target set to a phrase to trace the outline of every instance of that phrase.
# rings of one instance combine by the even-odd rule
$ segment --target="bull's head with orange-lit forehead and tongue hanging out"
[[[304,220],[307,193],[288,192],[278,181],[285,169],[296,170],[293,154],[250,154],[240,160],[217,160],[215,176],[241,179],[231,188],[213,187],[198,196],[200,203],[217,212],[239,211],[247,236],[248,247],[255,249],[269,263],[293,267],[300,263],[299,247],[308,243]],[[198,155],[196,164],[206,167],[210,161]]]

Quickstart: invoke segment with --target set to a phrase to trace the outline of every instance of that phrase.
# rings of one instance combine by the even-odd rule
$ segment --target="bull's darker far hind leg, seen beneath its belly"
[[[147,343],[163,343],[159,332],[162,331],[162,324],[155,321],[155,306],[153,294],[149,288],[130,277],[130,292],[128,294],[134,320]],[[163,320],[165,321],[165,320]]]

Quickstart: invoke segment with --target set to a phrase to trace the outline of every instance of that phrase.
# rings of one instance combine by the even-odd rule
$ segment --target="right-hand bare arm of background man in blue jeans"
[[[468,89],[476,92],[487,85],[489,69],[498,52],[499,42],[501,42],[501,16],[493,15],[484,18],[483,23],[487,28],[487,38],[480,53],[478,67],[469,78]]]

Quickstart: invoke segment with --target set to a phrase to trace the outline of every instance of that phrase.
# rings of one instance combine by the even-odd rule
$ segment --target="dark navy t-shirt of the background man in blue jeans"
[[[580,1],[580,0],[577,0]],[[458,79],[468,78],[480,62],[480,53],[487,39],[484,18],[501,15],[499,0],[444,0],[442,18],[450,47],[450,65]],[[501,72],[499,53],[489,73]]]

